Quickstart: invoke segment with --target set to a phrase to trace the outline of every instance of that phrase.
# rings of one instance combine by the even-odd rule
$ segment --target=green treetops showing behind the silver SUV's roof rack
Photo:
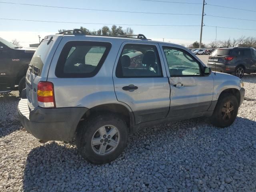
[[[109,36],[118,36],[118,35],[130,35],[133,34],[133,29],[128,27],[126,29],[123,29],[121,26],[112,25],[111,28],[108,26],[103,26],[102,28],[98,30],[89,30],[85,27],[80,27],[80,30],[82,30],[85,34],[91,34],[91,35],[109,35]],[[58,32],[66,31],[66,29],[59,29]]]

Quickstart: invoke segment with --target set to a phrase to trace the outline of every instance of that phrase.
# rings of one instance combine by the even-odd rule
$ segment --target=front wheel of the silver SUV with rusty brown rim
[[[228,102],[230,102],[230,109],[233,108],[233,110],[230,111],[230,116],[226,114],[226,110],[228,111]],[[212,124],[220,128],[228,127],[233,124],[237,113],[238,101],[236,97],[230,93],[222,93],[212,114]]]

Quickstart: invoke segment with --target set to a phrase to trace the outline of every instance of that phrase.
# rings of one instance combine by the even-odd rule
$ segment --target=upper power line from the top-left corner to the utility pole
[[[161,14],[161,15],[195,15],[200,16],[200,14],[182,14],[182,13],[156,13],[156,12],[136,12],[136,11],[118,11],[118,10],[103,10],[103,9],[88,9],[88,8],[76,8],[76,7],[60,7],[60,6],[48,6],[39,4],[25,4],[25,3],[13,3],[13,2],[3,2],[4,4],[15,4],[15,5],[26,5],[26,6],[38,6],[38,7],[48,7],[48,8],[62,8],[62,9],[75,9],[75,10],[90,10],[90,11],[105,11],[105,12],[122,12],[122,13],[142,13],[142,14]]]

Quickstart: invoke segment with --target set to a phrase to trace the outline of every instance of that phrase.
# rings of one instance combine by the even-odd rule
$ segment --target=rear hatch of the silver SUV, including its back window
[[[47,36],[42,40],[34,53],[26,74],[26,94],[28,106],[32,110],[38,106],[37,85],[40,81],[47,80],[48,68],[50,66],[49,52],[56,40],[53,36]]]

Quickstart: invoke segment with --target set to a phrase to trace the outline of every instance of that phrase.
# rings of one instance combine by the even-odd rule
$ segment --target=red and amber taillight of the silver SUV
[[[44,108],[54,108],[54,88],[52,82],[40,81],[37,86],[38,106]]]

